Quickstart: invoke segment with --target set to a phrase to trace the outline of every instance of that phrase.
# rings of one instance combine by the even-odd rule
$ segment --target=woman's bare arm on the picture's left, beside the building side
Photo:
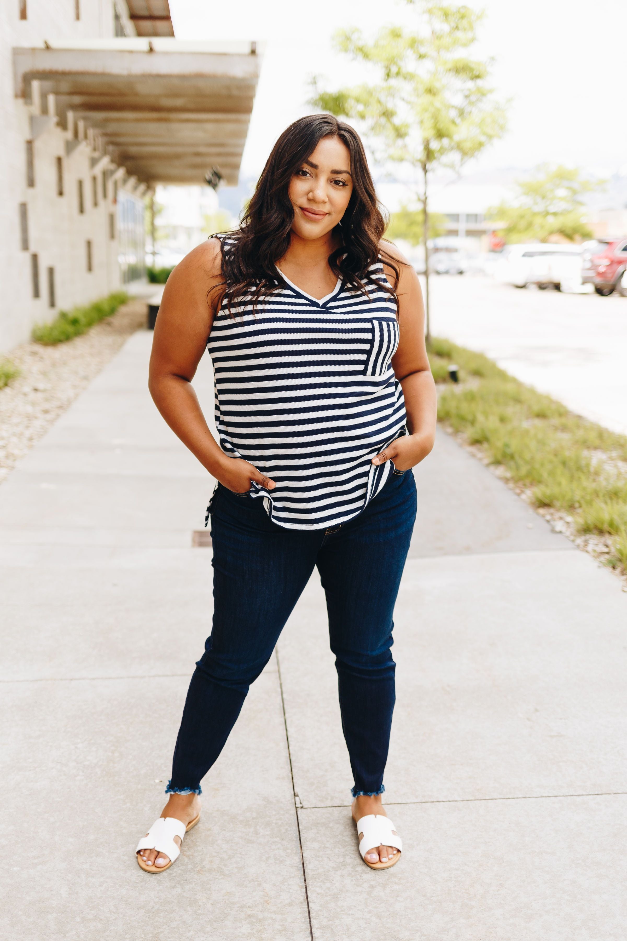
[[[167,279],[152,341],[149,391],[175,435],[221,484],[236,493],[249,490],[253,480],[273,489],[274,481],[252,464],[225,455],[191,384],[212,329],[214,304],[208,292],[221,280],[217,239],[196,247]]]

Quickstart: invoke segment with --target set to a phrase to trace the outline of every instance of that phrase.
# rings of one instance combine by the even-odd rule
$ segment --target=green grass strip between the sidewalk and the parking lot
[[[607,564],[627,572],[627,436],[572,414],[480,353],[433,338],[429,354],[443,384],[438,419],[506,468],[536,506],[568,514],[579,534],[603,536]]]

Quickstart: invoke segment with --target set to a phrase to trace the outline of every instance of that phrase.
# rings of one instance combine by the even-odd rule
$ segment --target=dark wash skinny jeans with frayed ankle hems
[[[260,499],[218,486],[212,635],[187,693],[166,793],[201,792],[314,566],[326,595],[353,797],[384,791],[395,701],[392,614],[415,506],[414,474],[395,472],[358,517],[302,532],[273,523]]]

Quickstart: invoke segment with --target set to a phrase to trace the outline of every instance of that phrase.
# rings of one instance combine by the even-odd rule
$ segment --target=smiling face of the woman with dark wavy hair
[[[337,226],[353,193],[351,154],[339,137],[322,137],[292,176],[288,192],[291,230],[301,238],[321,238]]]

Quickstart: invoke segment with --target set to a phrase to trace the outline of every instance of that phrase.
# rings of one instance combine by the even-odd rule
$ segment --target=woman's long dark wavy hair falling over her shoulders
[[[339,246],[328,258],[329,267],[345,286],[368,296],[364,286],[375,281],[368,272],[380,255],[399,279],[395,260],[379,246],[387,217],[379,203],[361,138],[350,124],[333,115],[309,115],[290,124],[274,144],[240,228],[220,237],[223,281],[218,285],[220,300],[226,298],[227,311],[244,298],[255,310],[259,301],[277,288],[285,287],[276,264],[290,247],[294,218],[288,189],[294,173],[315,151],[323,137],[339,137],[351,154],[353,193],[336,226]],[[392,295],[385,282],[380,288]]]

